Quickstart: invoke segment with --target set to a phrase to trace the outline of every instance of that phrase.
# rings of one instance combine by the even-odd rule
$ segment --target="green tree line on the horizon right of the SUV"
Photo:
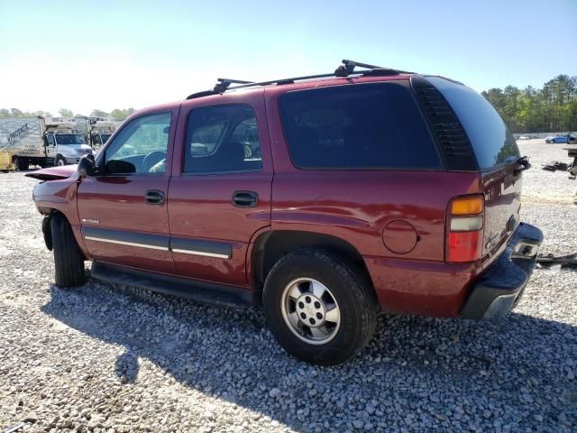
[[[577,131],[577,77],[558,75],[543,88],[490,88],[481,95],[514,133]]]

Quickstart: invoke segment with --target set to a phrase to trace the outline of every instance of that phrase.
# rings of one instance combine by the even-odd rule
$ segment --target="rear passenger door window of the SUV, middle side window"
[[[251,106],[205,106],[188,115],[184,172],[260,170],[261,140]]]

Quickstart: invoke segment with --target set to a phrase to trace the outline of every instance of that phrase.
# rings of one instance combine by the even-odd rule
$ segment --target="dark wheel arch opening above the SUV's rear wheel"
[[[275,263],[283,256],[304,248],[324,250],[338,256],[358,269],[372,287],[371,274],[353,244],[337,236],[298,230],[270,230],[257,237],[251,253],[252,287],[262,290]],[[374,288],[372,290],[374,292]]]

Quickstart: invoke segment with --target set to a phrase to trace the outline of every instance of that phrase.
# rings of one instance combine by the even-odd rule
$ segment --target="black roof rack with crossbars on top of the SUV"
[[[352,74],[362,76],[383,77],[383,76],[414,73],[400,69],[381,68],[380,66],[374,66],[368,63],[362,63],[360,61],[354,61],[354,60],[343,60],[342,63],[343,63],[342,65],[340,65],[337,69],[334,70],[333,73],[330,74],[306,75],[304,77],[271,79],[269,81],[260,81],[260,82],[244,81],[240,79],[230,79],[230,78],[218,78],[216,80],[215,87],[212,90],[205,90],[203,92],[193,93],[192,95],[189,95],[187,99],[206,97],[209,95],[218,95],[224,93],[226,90],[234,90],[236,88],[252,88],[255,86],[269,86],[271,84],[276,85],[292,84],[295,81],[302,81],[305,79],[329,78],[329,77],[344,78]],[[355,71],[354,69],[356,67],[364,68],[364,70]],[[234,88],[230,88],[231,84],[239,84],[240,86],[234,86]]]

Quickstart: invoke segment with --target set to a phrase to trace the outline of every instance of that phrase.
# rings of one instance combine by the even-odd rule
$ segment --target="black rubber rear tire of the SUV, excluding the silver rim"
[[[283,317],[283,291],[291,281],[312,279],[330,290],[340,310],[339,327],[325,344],[310,344],[296,336]],[[290,355],[311,364],[341,364],[367,345],[377,323],[378,304],[371,283],[352,263],[322,250],[289,253],[269,272],[262,293],[267,323]]]

